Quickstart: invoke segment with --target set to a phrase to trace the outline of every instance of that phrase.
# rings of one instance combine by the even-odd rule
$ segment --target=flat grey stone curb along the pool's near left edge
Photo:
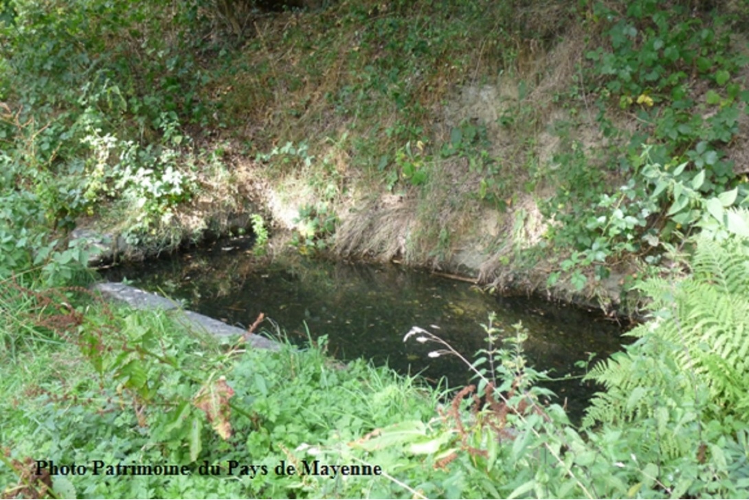
[[[144,292],[141,289],[125,285],[124,283],[97,283],[97,285],[93,286],[93,289],[100,292],[104,297],[113,301],[124,302],[133,307],[133,309],[160,309],[167,311],[181,325],[197,333],[210,334],[215,337],[246,334],[246,331],[242,328],[227,325],[218,319],[213,319],[193,311],[184,310],[180,304],[169,298],[156,295],[155,293]],[[249,335],[246,340],[255,349],[269,349],[271,351],[281,349],[281,344],[260,335]]]

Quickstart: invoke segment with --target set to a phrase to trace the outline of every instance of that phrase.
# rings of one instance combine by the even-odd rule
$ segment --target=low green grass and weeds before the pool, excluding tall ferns
[[[470,389],[449,395],[363,360],[344,366],[326,355],[324,340],[301,350],[253,350],[191,334],[168,313],[25,293],[54,297],[48,307],[63,313],[4,311],[6,336],[24,331],[13,325],[47,325],[0,365],[5,496],[52,495],[47,487],[80,498],[745,496],[747,484],[737,480],[746,472],[746,423],[702,406],[690,410],[704,388],[676,384],[681,370],[663,371],[658,386],[678,388],[671,394],[677,406],[652,399],[652,388],[632,391],[655,420],[580,430],[560,406],[539,403],[544,390],[536,382],[544,374],[522,358],[521,326],[513,343],[488,346],[472,361],[482,373],[480,400]],[[79,321],[72,328],[66,318]],[[484,330],[496,334],[491,322]],[[416,331],[414,340],[423,335]],[[637,346],[629,355],[638,363],[648,356],[637,349],[658,349],[647,339]],[[661,358],[675,367],[667,353]],[[503,391],[489,383],[494,376]],[[703,439],[710,444],[700,458],[664,448],[674,439],[686,450],[702,448]],[[87,469],[52,475],[45,485],[44,476],[31,475],[36,460]],[[191,473],[93,475],[94,460]],[[276,474],[282,463],[303,471],[315,460],[383,473]],[[216,474],[201,474],[201,466]]]

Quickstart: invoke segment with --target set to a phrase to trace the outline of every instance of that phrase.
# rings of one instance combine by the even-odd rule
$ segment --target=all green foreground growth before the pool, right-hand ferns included
[[[736,214],[745,231],[746,211]],[[172,313],[7,281],[2,334],[16,343],[1,368],[4,494],[746,496],[746,241],[703,232],[688,260],[694,277],[643,285],[652,318],[586,377],[604,391],[582,427],[547,402],[548,376],[527,363],[523,326],[493,317],[473,359],[424,328],[404,337],[473,371],[473,385],[449,394],[364,361],[330,361],[324,339],[260,351],[243,337],[196,334]],[[328,469],[313,472],[315,461]],[[52,474],[52,462],[85,469]],[[187,472],[103,481],[97,464]],[[330,469],[344,465],[377,473]]]

